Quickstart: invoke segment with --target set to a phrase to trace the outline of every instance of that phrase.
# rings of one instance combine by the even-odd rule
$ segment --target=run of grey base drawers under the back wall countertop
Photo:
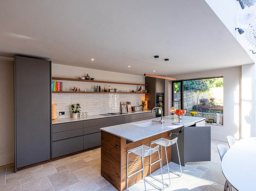
[[[100,146],[100,128],[155,117],[155,112],[147,112],[53,124],[52,158]]]

